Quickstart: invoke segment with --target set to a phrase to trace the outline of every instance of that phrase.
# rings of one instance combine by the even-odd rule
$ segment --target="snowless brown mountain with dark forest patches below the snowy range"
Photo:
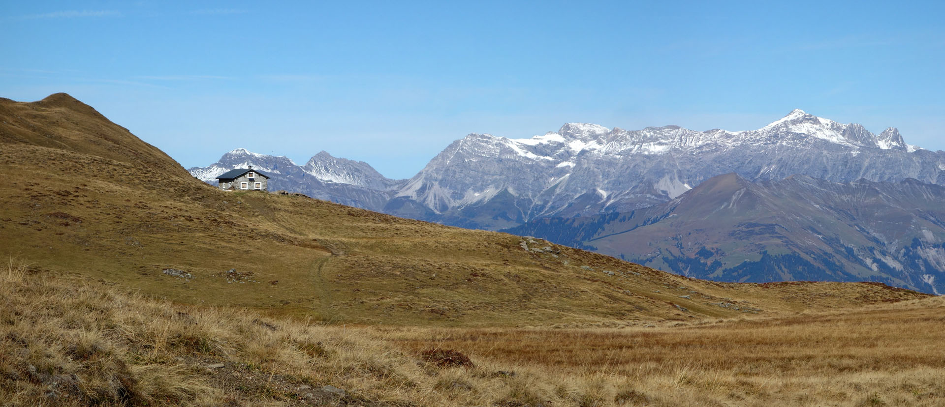
[[[881,281],[945,292],[945,188],[710,178],[633,212],[508,229],[699,279]]]

